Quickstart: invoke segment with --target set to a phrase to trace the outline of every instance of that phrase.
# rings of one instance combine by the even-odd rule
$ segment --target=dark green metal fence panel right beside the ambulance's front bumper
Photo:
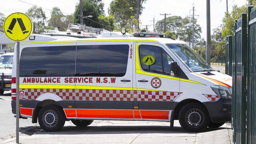
[[[247,66],[247,14],[243,13],[234,25],[232,65],[232,127],[234,143],[246,142],[246,66]]]

